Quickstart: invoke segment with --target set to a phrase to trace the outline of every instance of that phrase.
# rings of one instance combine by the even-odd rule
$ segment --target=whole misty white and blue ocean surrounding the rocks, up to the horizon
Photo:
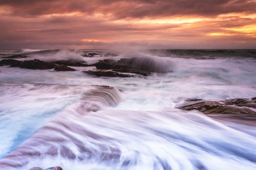
[[[0,170],[256,170],[256,119],[177,108],[190,98],[256,97],[256,50],[0,51],[13,55],[87,64],[135,57],[152,74],[1,66]]]

